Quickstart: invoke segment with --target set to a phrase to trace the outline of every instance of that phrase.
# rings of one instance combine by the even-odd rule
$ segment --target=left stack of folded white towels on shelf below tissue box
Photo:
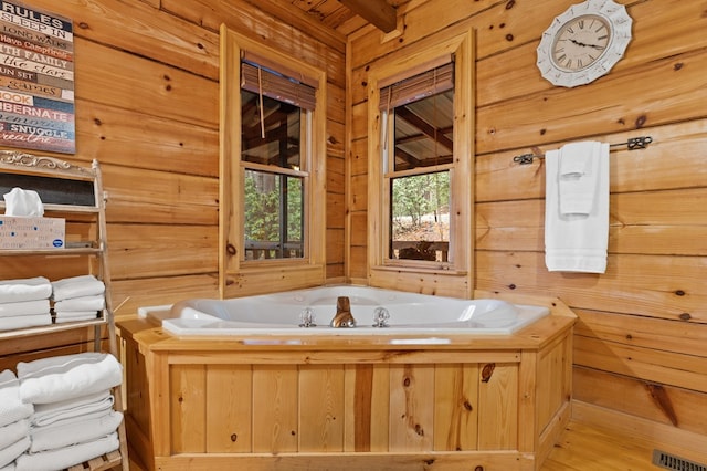
[[[51,324],[51,294],[44,276],[0,281],[0,331]]]

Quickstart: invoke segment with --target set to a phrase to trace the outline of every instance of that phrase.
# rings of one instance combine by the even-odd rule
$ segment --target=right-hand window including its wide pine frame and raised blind
[[[369,70],[369,283],[469,297],[473,34],[441,34]]]

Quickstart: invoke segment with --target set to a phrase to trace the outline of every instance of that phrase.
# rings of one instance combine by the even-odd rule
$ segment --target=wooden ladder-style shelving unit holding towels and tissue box
[[[96,160],[88,167],[81,167],[67,161],[49,157],[0,150],[0,193],[13,187],[35,190],[42,199],[46,217],[65,218],[66,224],[78,227],[81,240],[67,240],[64,248],[57,249],[2,249],[0,258],[81,258],[86,260],[86,269],[81,274],[93,274],[105,284],[105,308],[101,315],[91,321],[53,323],[46,326],[0,331],[3,339],[45,335],[72,329],[94,329],[94,349],[102,350],[102,332],[107,332],[107,352],[119,359],[113,303],[110,299],[110,270],[106,242],[106,195],[103,190],[101,168]],[[0,210],[4,213],[6,203],[0,201]],[[113,389],[115,409],[123,411],[120,386]],[[119,449],[106,453],[70,470],[101,471],[122,467],[129,470],[125,422],[118,428]]]

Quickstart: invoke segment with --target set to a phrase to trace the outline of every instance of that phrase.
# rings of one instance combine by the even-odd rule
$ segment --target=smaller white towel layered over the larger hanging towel
[[[599,161],[609,145],[588,140],[560,149],[558,175],[561,214],[589,214],[597,199]]]

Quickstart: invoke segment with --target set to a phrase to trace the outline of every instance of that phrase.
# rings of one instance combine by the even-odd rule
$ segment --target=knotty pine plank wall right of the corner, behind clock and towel
[[[535,50],[553,17],[577,2],[411,1],[399,8],[404,31],[394,41],[371,29],[349,36],[349,274],[367,278],[367,65],[471,24],[476,287],[562,299],[580,316],[574,398],[696,443],[707,436],[707,2],[619,0],[634,20],[624,59],[592,84],[553,87]],[[606,273],[548,272],[545,166],[513,157],[642,135],[654,139],[648,149],[611,153]]]

